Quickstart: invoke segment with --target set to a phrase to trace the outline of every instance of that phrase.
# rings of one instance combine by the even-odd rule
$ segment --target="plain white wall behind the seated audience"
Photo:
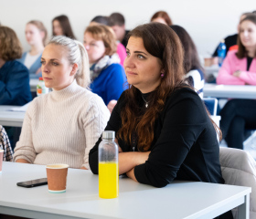
[[[94,16],[120,12],[126,28],[148,22],[158,10],[165,10],[176,25],[183,26],[194,39],[201,56],[209,56],[219,40],[237,31],[240,14],[256,10],[255,0],[0,0],[0,22],[16,31],[25,50],[25,26],[41,20],[51,35],[51,20],[65,14],[75,36],[82,41],[83,31]]]

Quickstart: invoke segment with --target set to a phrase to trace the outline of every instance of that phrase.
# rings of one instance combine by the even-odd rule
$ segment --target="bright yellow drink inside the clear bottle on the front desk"
[[[111,199],[119,194],[118,162],[99,162],[99,196]]]

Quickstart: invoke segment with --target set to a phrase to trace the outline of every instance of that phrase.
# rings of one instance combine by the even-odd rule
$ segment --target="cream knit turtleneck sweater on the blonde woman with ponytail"
[[[67,163],[70,168],[90,169],[89,152],[109,118],[103,100],[74,80],[69,87],[29,104],[14,161]]]

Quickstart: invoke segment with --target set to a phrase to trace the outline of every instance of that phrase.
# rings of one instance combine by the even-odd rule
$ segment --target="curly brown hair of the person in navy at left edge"
[[[10,61],[20,58],[21,55],[22,47],[16,32],[7,26],[0,26],[0,57]]]

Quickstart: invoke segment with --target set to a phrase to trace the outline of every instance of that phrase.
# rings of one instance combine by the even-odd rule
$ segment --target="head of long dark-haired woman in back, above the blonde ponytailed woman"
[[[69,38],[76,39],[73,34],[68,16],[56,16],[53,18],[52,36],[67,36]]]

